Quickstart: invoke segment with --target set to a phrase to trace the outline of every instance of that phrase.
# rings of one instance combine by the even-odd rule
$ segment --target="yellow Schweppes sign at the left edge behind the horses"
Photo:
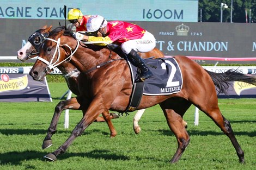
[[[26,89],[28,86],[27,74],[22,77],[9,78],[8,74],[1,74],[0,93],[7,91],[18,91]]]

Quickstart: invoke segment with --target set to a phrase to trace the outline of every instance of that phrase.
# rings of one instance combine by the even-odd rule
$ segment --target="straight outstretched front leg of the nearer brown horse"
[[[87,110],[83,110],[83,117],[81,121],[76,125],[75,129],[72,131],[69,138],[54,152],[47,154],[44,156],[47,160],[56,161],[57,156],[65,153],[66,149],[70,146],[70,144],[75,140],[76,137],[82,135],[83,131],[89,127],[90,124],[102,113],[107,112],[102,108],[99,108],[99,102],[95,99]],[[105,114],[104,113],[104,114]]]

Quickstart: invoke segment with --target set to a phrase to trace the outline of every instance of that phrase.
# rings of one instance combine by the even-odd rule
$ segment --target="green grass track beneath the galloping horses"
[[[241,165],[231,142],[222,131],[199,112],[199,126],[194,126],[194,106],[184,119],[191,142],[178,163],[169,160],[176,150],[176,138],[169,130],[159,108],[146,110],[139,124],[141,134],[132,129],[130,116],[114,119],[118,135],[109,138],[106,123],[93,123],[76,138],[58,161],[42,157],[57,149],[81,119],[80,111],[70,111],[70,128],[64,129],[60,117],[53,146],[42,150],[41,144],[50,124],[54,106],[67,90],[65,83],[49,83],[52,103],[0,103],[0,169],[256,169],[256,99],[220,99],[220,109],[230,122],[246,164]]]

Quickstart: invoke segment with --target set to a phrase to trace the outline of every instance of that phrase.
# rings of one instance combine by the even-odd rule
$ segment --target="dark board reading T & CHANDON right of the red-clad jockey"
[[[164,55],[252,58],[256,54],[256,41],[248,36],[255,33],[255,24],[135,23],[155,35],[156,46]]]

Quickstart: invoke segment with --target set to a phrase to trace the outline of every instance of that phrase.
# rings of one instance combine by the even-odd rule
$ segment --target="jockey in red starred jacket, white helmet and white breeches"
[[[97,43],[97,45],[100,46],[106,46],[109,43],[120,45],[121,50],[127,55],[132,64],[141,70],[141,74],[139,75],[141,81],[145,81],[153,75],[145,65],[144,60],[137,53],[149,52],[155,48],[156,40],[153,34],[136,24],[123,21],[107,22],[105,18],[100,15],[91,16],[86,27],[88,32],[93,33],[97,37],[78,35],[80,33],[76,33],[77,39],[84,41],[101,41]]]

